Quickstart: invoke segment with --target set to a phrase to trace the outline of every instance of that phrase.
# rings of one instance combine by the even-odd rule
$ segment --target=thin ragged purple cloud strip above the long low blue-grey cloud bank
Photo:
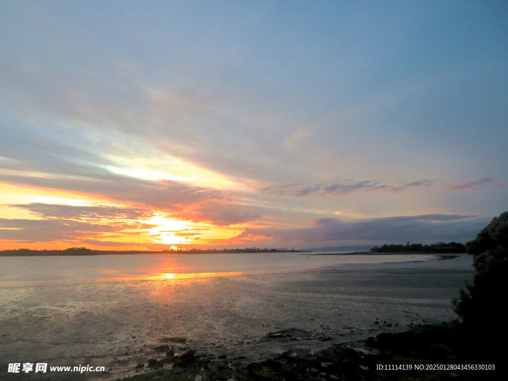
[[[304,197],[309,195],[330,195],[330,196],[343,196],[356,191],[367,190],[387,190],[388,192],[396,193],[408,190],[411,187],[430,186],[434,180],[419,180],[413,181],[403,185],[384,185],[373,180],[360,181],[354,184],[340,184],[340,183],[293,183],[293,184],[275,184],[267,186],[260,190],[261,193],[274,195],[274,196],[294,196]]]

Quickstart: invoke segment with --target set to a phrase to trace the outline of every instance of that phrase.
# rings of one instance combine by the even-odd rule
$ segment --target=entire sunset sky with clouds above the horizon
[[[0,249],[466,242],[503,1],[0,0]]]

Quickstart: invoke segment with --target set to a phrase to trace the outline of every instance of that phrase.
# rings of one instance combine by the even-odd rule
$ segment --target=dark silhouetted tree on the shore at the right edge
[[[467,242],[476,273],[472,284],[454,300],[465,335],[479,358],[497,358],[505,346],[508,309],[508,211],[492,219],[477,238]],[[502,360],[503,362],[505,360]]]

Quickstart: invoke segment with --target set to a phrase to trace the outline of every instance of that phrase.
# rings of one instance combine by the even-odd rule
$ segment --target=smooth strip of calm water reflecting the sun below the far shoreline
[[[427,261],[432,255],[313,253],[139,254],[0,257],[0,285],[20,282],[142,280],[301,271],[349,264]]]

